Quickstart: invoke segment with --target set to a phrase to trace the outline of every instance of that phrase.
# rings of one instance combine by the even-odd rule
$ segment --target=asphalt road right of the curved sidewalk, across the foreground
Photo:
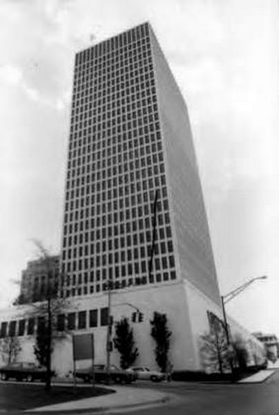
[[[169,392],[173,398],[160,407],[137,410],[137,415],[279,415],[279,371],[256,384],[171,382],[148,387]],[[125,414],[135,414],[135,409]]]

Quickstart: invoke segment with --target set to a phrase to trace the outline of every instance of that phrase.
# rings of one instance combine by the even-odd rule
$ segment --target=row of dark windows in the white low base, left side
[[[0,338],[15,335],[34,335],[39,329],[44,329],[44,317],[30,317],[28,319],[1,322]],[[81,330],[97,326],[107,326],[108,308],[97,308],[88,311],[78,311],[57,315],[55,327],[57,331]]]

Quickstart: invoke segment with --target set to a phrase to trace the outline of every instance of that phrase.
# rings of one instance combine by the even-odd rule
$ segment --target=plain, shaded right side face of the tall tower
[[[180,275],[220,302],[188,111],[152,30],[151,40]]]

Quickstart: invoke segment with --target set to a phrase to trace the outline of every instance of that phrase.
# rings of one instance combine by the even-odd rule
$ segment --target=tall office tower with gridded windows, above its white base
[[[186,279],[220,296],[182,95],[142,24],[77,53],[61,295]]]

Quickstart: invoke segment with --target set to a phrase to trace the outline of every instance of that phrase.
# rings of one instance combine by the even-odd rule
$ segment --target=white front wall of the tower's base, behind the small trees
[[[133,308],[124,304],[131,303],[144,313],[142,323],[131,322]],[[69,311],[83,311],[91,308],[103,308],[107,306],[107,295],[92,295],[80,299],[75,299],[73,308]],[[147,365],[157,369],[153,349],[155,344],[151,338],[150,320],[153,318],[154,311],[166,313],[168,318],[169,330],[171,336],[170,358],[175,369],[195,369],[198,363],[195,357],[194,343],[191,332],[191,323],[189,309],[186,304],[186,291],[183,282],[174,282],[169,284],[155,285],[152,287],[139,287],[133,290],[113,293],[112,295],[112,314],[114,321],[119,321],[122,317],[128,317],[133,326],[136,347],[138,347],[140,356],[137,358],[137,364]],[[1,321],[9,321],[10,317],[22,318],[24,308],[11,308],[1,313]],[[75,333],[95,334],[95,362],[106,362],[106,326],[98,326],[93,329],[76,330]],[[53,353],[53,367],[59,374],[67,374],[73,370],[73,351],[72,335],[70,333],[65,338],[60,338],[55,342],[55,351]],[[34,336],[23,336],[21,342],[24,344],[23,351],[19,360],[35,360],[33,355]],[[116,349],[111,353],[111,362],[119,365],[119,353]],[[89,362],[79,362],[81,366],[88,366]]]

